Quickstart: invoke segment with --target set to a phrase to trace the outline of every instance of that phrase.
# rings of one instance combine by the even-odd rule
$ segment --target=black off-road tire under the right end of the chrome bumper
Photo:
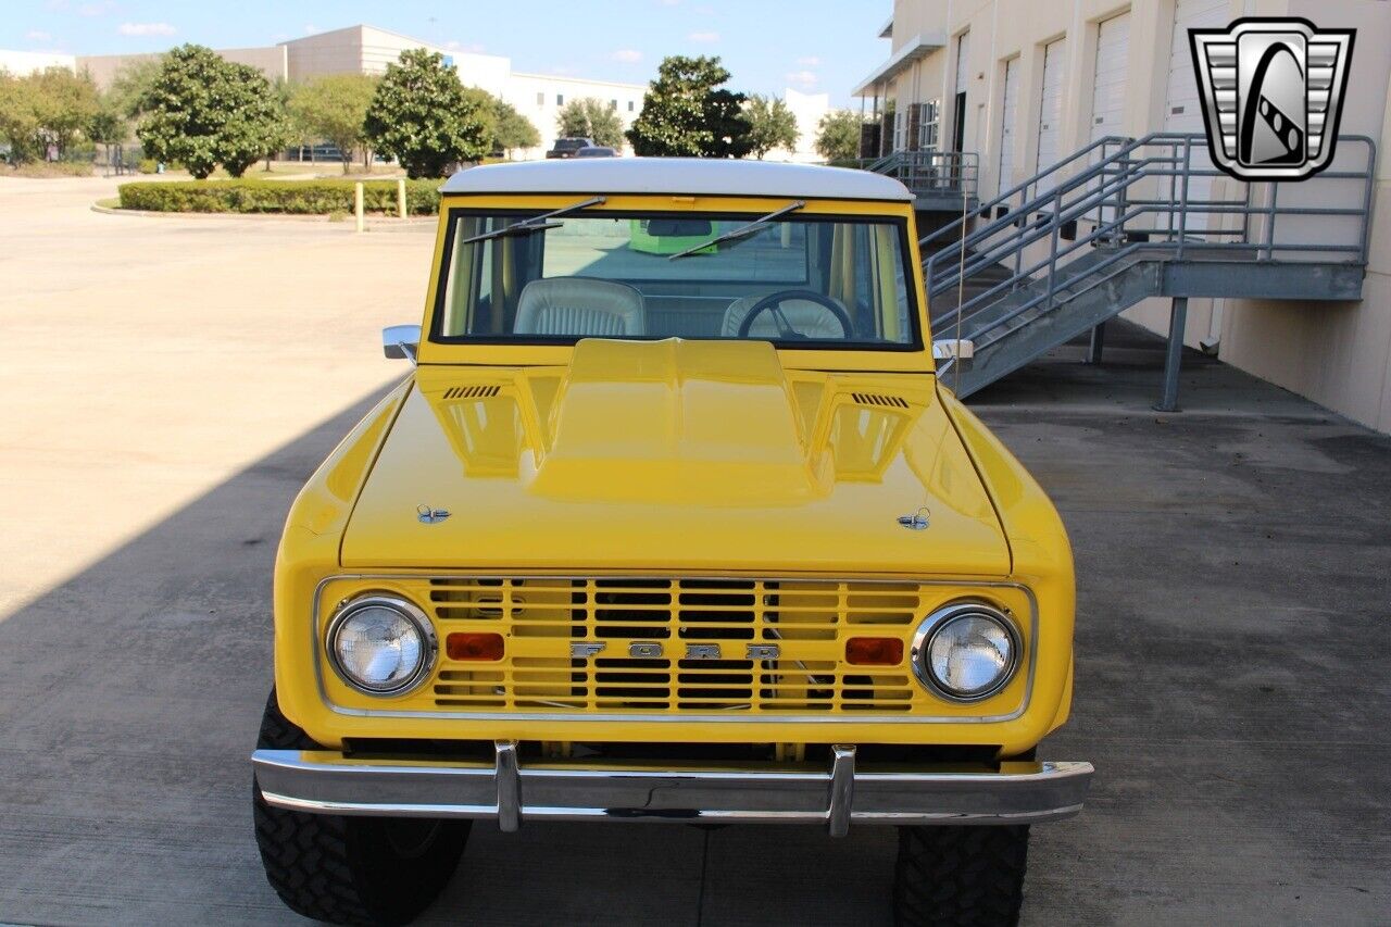
[[[893,878],[897,927],[1017,924],[1029,828],[900,827]]]

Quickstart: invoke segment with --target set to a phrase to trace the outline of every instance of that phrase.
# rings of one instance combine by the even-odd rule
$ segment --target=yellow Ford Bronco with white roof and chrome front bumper
[[[938,377],[911,193],[682,159],[442,188],[409,376],[295,501],[256,838],[405,923],[474,820],[899,828],[901,924],[1013,923],[1072,686],[1053,505]]]

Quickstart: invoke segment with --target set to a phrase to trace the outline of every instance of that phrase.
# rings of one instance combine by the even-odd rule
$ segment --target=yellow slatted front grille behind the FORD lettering
[[[844,663],[857,635],[901,637],[907,653],[925,614],[918,583],[442,578],[428,589],[441,636],[506,640],[498,663],[442,661],[433,696],[451,711],[901,713],[921,696],[906,663]],[[604,647],[580,658],[577,642]],[[634,657],[633,644],[661,656]],[[776,660],[750,658],[769,644]]]

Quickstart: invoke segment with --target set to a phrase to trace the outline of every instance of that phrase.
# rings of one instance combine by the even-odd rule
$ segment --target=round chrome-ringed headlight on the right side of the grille
[[[995,695],[1018,664],[1018,631],[990,605],[957,603],[939,608],[918,626],[912,640],[918,681],[954,702]]]

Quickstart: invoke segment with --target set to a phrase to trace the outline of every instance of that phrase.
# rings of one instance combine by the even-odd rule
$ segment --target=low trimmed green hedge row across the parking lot
[[[302,213],[327,214],[353,210],[351,180],[274,181],[170,181],[121,184],[121,209],[156,213]],[[437,180],[406,181],[406,212],[434,216],[440,212]],[[364,181],[363,209],[396,212],[396,181]]]

